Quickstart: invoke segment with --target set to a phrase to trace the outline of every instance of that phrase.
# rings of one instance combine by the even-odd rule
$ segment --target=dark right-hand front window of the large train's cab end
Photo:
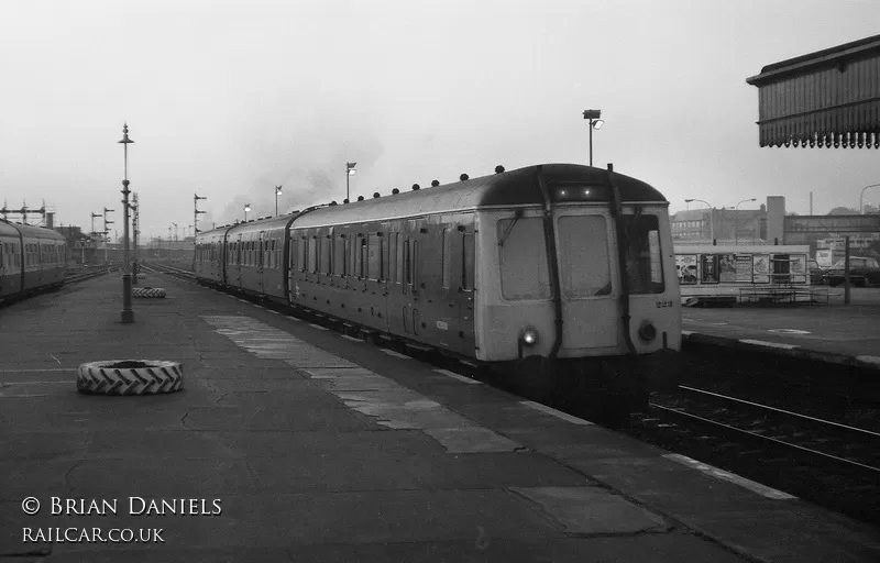
[[[660,227],[657,216],[624,216],[626,230],[626,272],[632,294],[662,294]]]

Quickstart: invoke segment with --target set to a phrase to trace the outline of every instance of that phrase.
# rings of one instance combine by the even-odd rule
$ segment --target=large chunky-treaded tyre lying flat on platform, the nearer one
[[[76,390],[86,395],[160,395],[184,388],[184,371],[164,360],[110,360],[81,364]]]

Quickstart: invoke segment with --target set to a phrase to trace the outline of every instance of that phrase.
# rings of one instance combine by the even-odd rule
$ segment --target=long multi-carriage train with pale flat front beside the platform
[[[681,346],[669,202],[608,170],[530,166],[199,233],[199,283],[644,406]]]

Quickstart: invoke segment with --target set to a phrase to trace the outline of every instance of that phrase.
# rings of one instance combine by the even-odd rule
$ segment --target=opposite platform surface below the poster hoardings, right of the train
[[[880,287],[854,288],[844,305],[832,288],[829,303],[695,308],[682,311],[686,339],[880,369]]]

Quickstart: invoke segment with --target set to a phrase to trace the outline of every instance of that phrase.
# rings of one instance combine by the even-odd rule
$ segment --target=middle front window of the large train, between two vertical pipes
[[[602,216],[568,216],[559,219],[560,282],[565,297],[610,295],[608,238]],[[588,266],[588,267],[584,267]]]

